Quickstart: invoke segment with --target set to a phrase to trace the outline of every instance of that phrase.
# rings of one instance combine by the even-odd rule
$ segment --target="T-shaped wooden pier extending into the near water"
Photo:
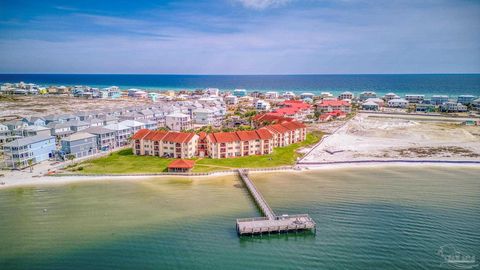
[[[247,175],[247,171],[239,169],[240,178],[245,183],[250,195],[254,199],[264,217],[237,219],[237,232],[239,235],[282,233],[291,231],[313,230],[316,232],[316,224],[307,214],[277,216],[262,194],[255,187]]]

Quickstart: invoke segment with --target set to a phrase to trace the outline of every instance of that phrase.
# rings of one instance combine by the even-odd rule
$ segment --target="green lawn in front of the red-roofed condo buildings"
[[[297,149],[317,143],[323,134],[308,133],[303,142],[278,147],[272,154],[225,159],[198,159],[193,172],[210,172],[235,168],[260,168],[293,165],[300,154]],[[135,156],[131,149],[114,152],[67,168],[67,171],[85,174],[159,173],[165,172],[173,159],[152,156]]]

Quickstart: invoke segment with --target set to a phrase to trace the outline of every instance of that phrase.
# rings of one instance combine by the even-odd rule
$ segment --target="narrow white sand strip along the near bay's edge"
[[[370,160],[370,161],[342,161],[315,164],[298,164],[290,169],[283,169],[282,172],[305,173],[309,171],[357,169],[357,168],[378,168],[378,167],[448,167],[448,168],[480,168],[480,160]],[[252,174],[276,173],[280,170],[255,170]],[[103,182],[103,181],[142,181],[154,178],[189,178],[192,180],[202,178],[215,178],[227,175],[235,175],[236,170],[212,173],[207,175],[172,175],[172,174],[142,174],[142,175],[59,175],[40,176],[29,179],[0,178],[0,190],[17,187],[67,185],[73,183]]]

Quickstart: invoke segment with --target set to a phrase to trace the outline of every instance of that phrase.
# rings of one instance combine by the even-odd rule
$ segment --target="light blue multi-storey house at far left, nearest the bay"
[[[42,162],[53,157],[55,137],[50,135],[36,135],[17,139],[3,145],[5,165],[8,168],[20,169],[29,164]]]

